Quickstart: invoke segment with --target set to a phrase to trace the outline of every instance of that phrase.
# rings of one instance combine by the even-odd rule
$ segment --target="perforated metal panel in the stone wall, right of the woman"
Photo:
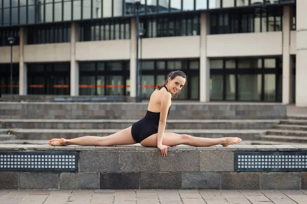
[[[234,152],[234,171],[306,171],[307,152]]]

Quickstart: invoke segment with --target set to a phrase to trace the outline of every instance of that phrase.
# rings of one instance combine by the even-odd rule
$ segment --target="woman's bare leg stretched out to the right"
[[[157,136],[153,134],[141,142],[143,146],[157,147]],[[237,144],[242,139],[237,137],[223,137],[223,138],[204,138],[204,137],[193,137],[190,135],[181,135],[176,133],[164,133],[162,144],[168,146],[175,146],[179,144],[186,144],[191,146],[212,146],[222,144],[228,146],[230,144]]]

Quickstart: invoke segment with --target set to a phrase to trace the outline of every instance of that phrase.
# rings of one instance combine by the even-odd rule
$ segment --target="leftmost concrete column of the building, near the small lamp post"
[[[19,29],[19,95],[27,95],[27,64],[24,63],[24,45],[27,44],[27,28]]]

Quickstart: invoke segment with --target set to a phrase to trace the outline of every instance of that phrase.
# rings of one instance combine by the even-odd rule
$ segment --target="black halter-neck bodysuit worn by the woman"
[[[169,114],[169,109],[167,115],[168,114]],[[160,112],[157,113],[147,110],[145,117],[135,122],[131,127],[131,134],[133,139],[136,142],[140,143],[150,135],[158,133],[159,120],[160,120]]]

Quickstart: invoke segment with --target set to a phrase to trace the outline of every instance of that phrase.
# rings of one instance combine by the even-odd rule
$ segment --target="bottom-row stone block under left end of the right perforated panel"
[[[260,189],[260,173],[222,172],[221,189]]]

